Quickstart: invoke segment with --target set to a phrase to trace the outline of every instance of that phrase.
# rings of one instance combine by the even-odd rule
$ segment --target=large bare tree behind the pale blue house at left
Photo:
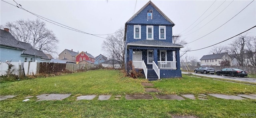
[[[57,54],[56,38],[52,30],[46,28],[45,22],[36,20],[17,20],[15,22],[7,22],[0,26],[1,28],[9,28],[10,33],[19,41],[27,42],[32,46],[46,53]]]

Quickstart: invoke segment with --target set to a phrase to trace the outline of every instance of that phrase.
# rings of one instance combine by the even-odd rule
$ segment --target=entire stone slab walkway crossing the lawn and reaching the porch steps
[[[144,86],[146,92],[156,92],[160,93],[160,90],[156,88],[150,88],[153,87],[154,85],[151,83],[141,83],[142,86]],[[63,100],[65,98],[68,98],[71,94],[42,94],[38,95],[36,101],[42,101],[42,100]],[[208,100],[208,96],[216,97],[216,98],[221,98],[221,99],[226,99],[226,100],[247,100],[247,99],[253,99],[256,100],[256,94],[237,94],[237,95],[224,95],[224,94],[182,94],[181,96],[178,95],[155,95],[152,96],[150,94],[126,94],[125,99],[126,100],[137,100],[137,99],[145,99],[145,100],[150,100],[150,99],[163,99],[163,100],[186,100],[186,99],[191,99],[191,100]],[[9,95],[9,96],[0,96],[0,101],[6,100],[9,98],[14,98],[16,97],[15,95]],[[29,101],[29,98],[33,98],[34,96],[27,96],[23,100],[23,102]],[[97,95],[84,95],[84,96],[78,96],[76,97],[76,100],[93,100],[96,99]],[[109,100],[111,98],[111,95],[99,95],[97,100]],[[116,95],[114,96],[115,100],[120,100],[122,98],[121,95]]]

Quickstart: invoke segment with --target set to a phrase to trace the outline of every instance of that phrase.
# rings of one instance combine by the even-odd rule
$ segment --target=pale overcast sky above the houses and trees
[[[13,0],[5,1],[16,5]],[[134,8],[136,13],[148,2],[148,0],[138,0],[137,2],[136,0],[15,1],[30,12],[91,34],[110,34],[116,32],[119,28],[124,27],[124,24],[133,16]],[[175,26],[172,28],[172,33],[174,35],[180,34],[182,35],[181,38],[186,40],[186,42],[191,42],[220,27],[222,24],[238,14],[238,12],[245,8],[250,2],[252,2],[252,0],[234,0],[233,2],[232,0],[217,0],[216,2],[212,0],[152,0],[152,2],[174,22]],[[228,6],[228,4],[230,5]],[[14,22],[19,19],[35,20],[37,18],[36,16],[3,1],[0,2],[0,6],[0,24]],[[224,10],[224,8],[226,9]],[[224,11],[221,12],[222,10]],[[212,21],[208,23],[210,20]],[[206,23],[208,24],[205,25]],[[191,50],[204,48],[235,36],[236,34],[248,30],[255,25],[256,2],[253,1],[247,8],[240,12],[240,14],[235,16],[222,27],[218,28],[211,34],[188,44],[186,47]],[[49,22],[46,22],[46,28],[52,30],[58,40],[60,40],[58,44],[58,54],[60,54],[64,49],[73,49],[74,51],[79,52],[87,51],[93,56],[104,54],[102,51],[103,38],[74,32]],[[247,33],[250,36],[256,36],[256,28],[253,28]],[[234,38],[218,45],[228,45],[232,40],[234,40]],[[199,61],[203,55],[209,54],[210,49],[211,48],[206,48],[204,50],[188,52],[187,55],[196,56]],[[184,50],[184,48],[181,48],[181,50]]]

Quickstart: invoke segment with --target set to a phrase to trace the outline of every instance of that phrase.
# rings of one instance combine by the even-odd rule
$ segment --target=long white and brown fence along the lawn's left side
[[[57,72],[77,72],[93,70],[99,67],[97,64],[60,64],[50,62],[10,62],[12,74],[19,75],[24,72],[26,75],[33,74],[55,74]],[[21,70],[22,69],[22,70]],[[24,70],[23,70],[24,69]],[[7,75],[8,64],[0,62],[0,76]]]

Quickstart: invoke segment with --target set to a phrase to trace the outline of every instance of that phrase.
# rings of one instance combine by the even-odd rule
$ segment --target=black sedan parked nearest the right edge
[[[240,70],[237,68],[223,68],[221,70],[217,70],[216,71],[217,75],[228,75],[228,76],[240,76],[240,77],[244,77],[244,76],[248,76],[247,72],[244,70]]]

